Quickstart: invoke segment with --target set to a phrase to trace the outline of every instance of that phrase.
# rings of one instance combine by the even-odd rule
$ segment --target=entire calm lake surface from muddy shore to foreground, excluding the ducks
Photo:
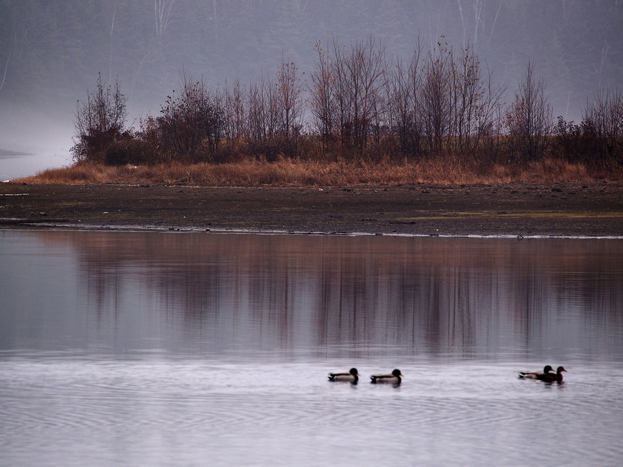
[[[4,230],[0,260],[1,465],[623,462],[623,240]]]

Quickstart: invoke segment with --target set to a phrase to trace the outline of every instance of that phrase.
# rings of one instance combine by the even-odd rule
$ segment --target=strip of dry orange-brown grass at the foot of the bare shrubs
[[[477,184],[511,182],[588,183],[597,178],[620,180],[622,170],[589,170],[579,163],[545,159],[525,166],[490,164],[477,166],[461,158],[421,161],[310,162],[281,159],[277,162],[244,160],[231,164],[161,164],[154,166],[106,166],[79,163],[50,169],[28,183],[61,184],[192,184],[204,186],[352,186],[370,184]]]

